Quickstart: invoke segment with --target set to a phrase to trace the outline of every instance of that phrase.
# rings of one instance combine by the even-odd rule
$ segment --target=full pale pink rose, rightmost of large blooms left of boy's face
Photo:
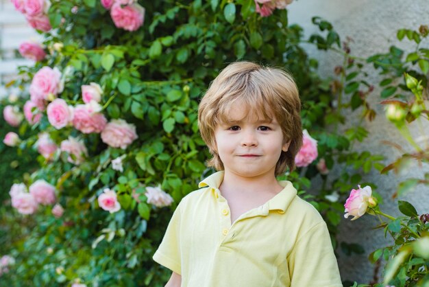
[[[135,139],[137,139],[136,126],[128,124],[123,119],[113,119],[101,132],[101,140],[112,148],[125,150]]]

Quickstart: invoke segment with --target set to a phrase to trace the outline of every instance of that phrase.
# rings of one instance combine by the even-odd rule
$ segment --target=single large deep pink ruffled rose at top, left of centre
[[[115,26],[127,31],[136,31],[145,19],[145,8],[134,3],[132,5],[121,6],[120,3],[114,3],[110,16]]]

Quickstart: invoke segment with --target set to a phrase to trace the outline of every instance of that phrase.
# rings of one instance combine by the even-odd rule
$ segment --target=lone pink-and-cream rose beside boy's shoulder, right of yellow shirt
[[[360,187],[358,185],[358,190],[352,190],[350,192],[349,198],[345,201],[345,218],[349,216],[353,216],[352,220],[360,218],[367,211],[369,201],[373,203],[373,199],[371,199],[372,190],[370,186]]]

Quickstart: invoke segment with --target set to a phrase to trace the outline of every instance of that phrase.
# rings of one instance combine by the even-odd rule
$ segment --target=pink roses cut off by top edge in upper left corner
[[[47,12],[51,3],[48,0],[11,0],[16,10],[25,15],[34,29],[48,32],[52,29]]]

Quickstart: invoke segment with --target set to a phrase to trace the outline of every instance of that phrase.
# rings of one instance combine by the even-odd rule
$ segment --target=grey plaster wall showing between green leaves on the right
[[[396,31],[403,27],[416,30],[421,24],[429,25],[429,3],[427,0],[297,0],[289,5],[290,23],[298,23],[304,27],[306,35],[316,31],[310,20],[312,16],[316,15],[330,21],[342,39],[345,39],[346,36],[353,38],[354,41],[351,43],[352,54],[365,58],[376,53],[387,52],[391,45],[409,51],[413,45],[408,45],[407,41],[404,43],[397,41]],[[422,45],[429,47],[428,43]],[[341,56],[332,52],[320,52],[312,47],[308,47],[308,51],[319,60],[321,74],[332,76],[334,67],[341,65]],[[371,68],[367,71],[369,72],[367,80],[377,85],[382,78]],[[397,150],[382,144],[382,140],[398,143],[409,151],[412,149],[397,133],[393,125],[385,119],[379,95],[380,90],[376,90],[369,97],[369,102],[378,116],[373,122],[365,122],[365,127],[370,131],[369,139],[358,144],[356,148],[357,150],[369,150],[376,154],[383,154],[387,158],[385,163],[390,163],[400,154]],[[359,114],[360,110],[348,116],[347,125],[352,126]],[[423,128],[419,128],[418,124],[414,123],[412,131],[416,137],[429,135],[427,122],[424,122]],[[426,143],[426,147],[428,146],[429,144]],[[429,172],[428,165],[424,165],[422,168],[411,165],[400,176],[394,174],[386,176],[380,175],[378,172],[371,172],[364,177],[363,181],[376,183],[378,185],[376,191],[384,198],[382,210],[393,216],[399,216],[397,200],[391,198],[397,184],[407,177],[422,178],[424,171]],[[332,171],[332,173],[335,172],[338,170]],[[399,199],[413,203],[419,214],[429,213],[428,186],[419,186],[415,192]],[[372,229],[376,225],[378,225],[376,218],[369,215],[353,222],[342,220],[340,240],[348,243],[360,243],[365,248],[364,255],[352,255],[351,257],[347,257],[339,251],[342,279],[367,284],[373,279],[374,266],[369,263],[367,257],[373,250],[387,244],[383,231]]]

